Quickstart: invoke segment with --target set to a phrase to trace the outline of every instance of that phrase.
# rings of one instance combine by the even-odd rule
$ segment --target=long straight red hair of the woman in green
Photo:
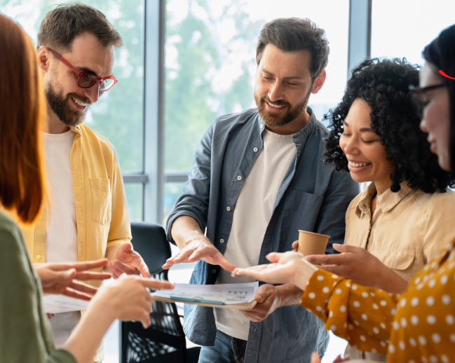
[[[0,44],[0,203],[20,221],[31,223],[44,198],[43,85],[32,41],[4,15],[0,15]]]

